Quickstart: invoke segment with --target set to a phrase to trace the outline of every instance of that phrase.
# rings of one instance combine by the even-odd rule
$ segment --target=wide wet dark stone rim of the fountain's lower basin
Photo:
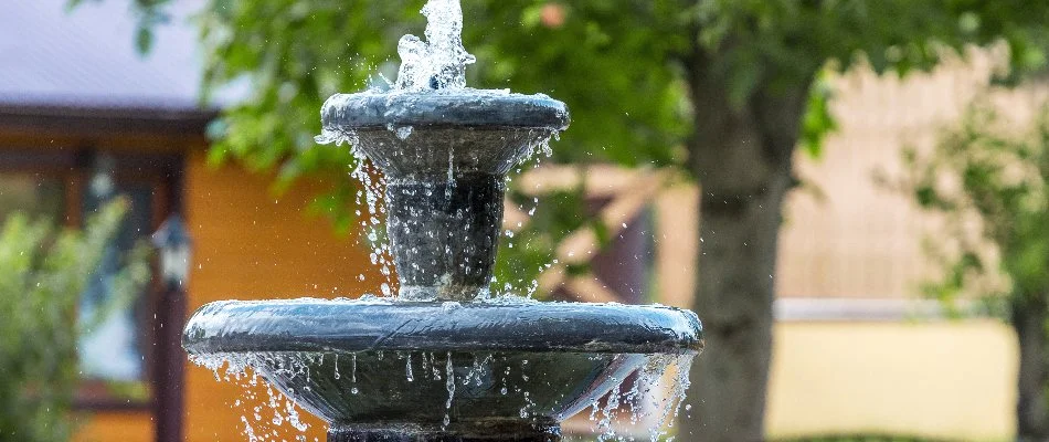
[[[691,354],[696,314],[674,307],[587,303],[224,301],[187,323],[191,355],[242,352]]]

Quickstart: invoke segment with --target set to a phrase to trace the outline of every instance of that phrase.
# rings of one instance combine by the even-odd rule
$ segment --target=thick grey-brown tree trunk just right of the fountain
[[[690,160],[701,187],[695,308],[707,347],[692,366],[692,408],[678,439],[760,441],[781,207],[794,181],[808,84],[775,93],[759,86],[740,108],[729,103],[725,78],[708,66],[703,54],[688,63],[696,107]]]

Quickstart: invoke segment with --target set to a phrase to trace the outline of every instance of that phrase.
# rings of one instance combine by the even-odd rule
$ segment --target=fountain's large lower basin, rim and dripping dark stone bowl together
[[[691,312],[581,303],[220,302],[183,346],[252,367],[329,441],[557,441],[646,364],[702,348]]]

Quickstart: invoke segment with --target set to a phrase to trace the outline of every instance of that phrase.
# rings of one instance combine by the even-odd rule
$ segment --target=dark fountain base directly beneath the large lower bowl
[[[445,429],[415,424],[332,424],[328,442],[560,442],[561,427],[553,420],[483,420],[452,423]]]

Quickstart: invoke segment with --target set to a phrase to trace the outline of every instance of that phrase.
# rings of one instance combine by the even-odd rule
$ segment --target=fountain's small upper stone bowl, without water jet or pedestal
[[[542,94],[442,90],[335,94],[320,112],[326,134],[350,140],[389,179],[454,173],[504,176],[570,123]]]

